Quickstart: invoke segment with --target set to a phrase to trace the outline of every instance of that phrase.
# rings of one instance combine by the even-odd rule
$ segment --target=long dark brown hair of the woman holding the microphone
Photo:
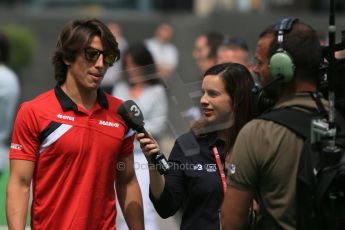
[[[225,153],[228,154],[240,129],[253,118],[251,89],[254,81],[248,69],[238,63],[215,65],[205,72],[204,77],[210,75],[218,76],[223,80],[225,90],[232,99],[230,106],[234,120],[233,125],[227,128],[225,143]],[[191,130],[197,135],[204,135],[207,133],[207,125],[206,120],[200,118],[192,125]]]

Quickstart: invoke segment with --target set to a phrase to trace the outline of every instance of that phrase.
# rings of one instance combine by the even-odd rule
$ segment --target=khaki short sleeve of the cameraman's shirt
[[[263,144],[260,135],[256,122],[248,123],[238,134],[227,170],[228,185],[243,190],[254,190],[260,167],[257,156],[260,155],[260,145]]]

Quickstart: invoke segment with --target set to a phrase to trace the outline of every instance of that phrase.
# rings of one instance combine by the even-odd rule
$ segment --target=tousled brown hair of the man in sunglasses
[[[92,39],[100,37],[104,49],[120,58],[120,50],[114,35],[109,28],[97,19],[82,19],[69,22],[59,35],[53,55],[55,80],[62,85],[66,80],[67,69],[65,61],[74,62],[77,55],[89,46]]]

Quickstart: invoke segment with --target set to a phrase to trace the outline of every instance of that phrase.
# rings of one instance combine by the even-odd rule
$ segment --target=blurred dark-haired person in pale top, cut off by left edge
[[[9,138],[20,97],[17,75],[8,66],[10,43],[0,32],[0,177],[7,168]]]

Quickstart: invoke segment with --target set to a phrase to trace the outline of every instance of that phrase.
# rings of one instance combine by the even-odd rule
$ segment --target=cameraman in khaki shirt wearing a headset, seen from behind
[[[294,67],[291,76],[283,76],[267,88],[274,108],[316,108],[310,96],[317,90],[322,61],[317,33],[296,19],[284,19],[290,27],[278,35],[275,26],[259,37],[254,68],[263,86],[282,77],[273,76],[273,54],[284,49]],[[273,98],[272,98],[273,97]],[[325,104],[325,101],[323,101]],[[244,229],[252,198],[261,209],[259,229],[296,228],[296,176],[303,140],[289,129],[272,121],[254,119],[240,131],[229,162],[228,187],[222,206],[223,229]]]

